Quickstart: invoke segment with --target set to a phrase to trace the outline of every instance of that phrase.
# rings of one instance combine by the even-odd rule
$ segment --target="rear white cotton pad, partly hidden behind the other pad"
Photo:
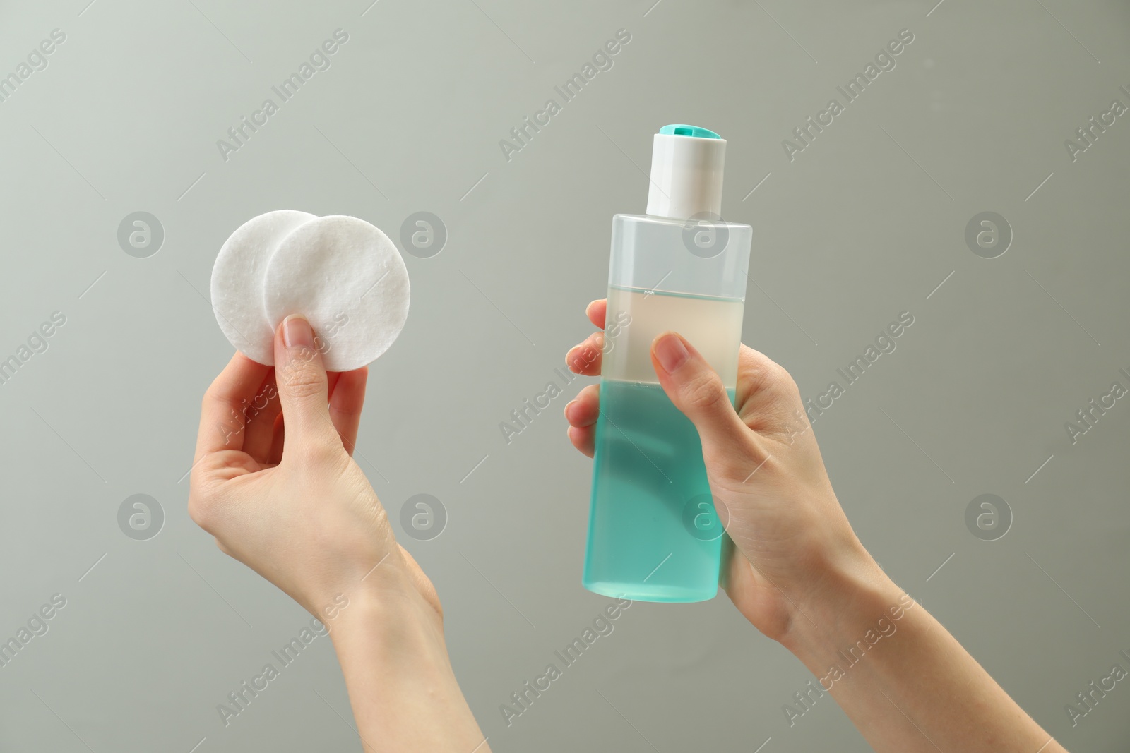
[[[241,225],[224,243],[212,266],[212,310],[236,350],[264,366],[275,362],[275,330],[263,316],[267,262],[292,230],[316,214],[280,209]]]

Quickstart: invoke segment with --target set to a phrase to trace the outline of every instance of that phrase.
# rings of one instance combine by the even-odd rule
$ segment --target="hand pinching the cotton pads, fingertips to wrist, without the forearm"
[[[323,621],[364,593],[426,604],[438,623],[431,581],[351,457],[367,369],[327,374],[302,317],[279,326],[275,362],[236,353],[205,394],[192,519]]]

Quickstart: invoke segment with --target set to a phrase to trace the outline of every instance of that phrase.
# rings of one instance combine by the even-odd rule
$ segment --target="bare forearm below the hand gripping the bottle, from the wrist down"
[[[816,675],[809,698],[831,693],[877,753],[1063,753],[877,566],[836,579],[782,643]]]

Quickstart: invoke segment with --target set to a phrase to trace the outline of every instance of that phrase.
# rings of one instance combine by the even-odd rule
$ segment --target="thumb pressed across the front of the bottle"
[[[703,450],[744,446],[749,429],[733,410],[722,377],[702,353],[675,332],[651,343],[651,362],[663,392],[698,430]]]

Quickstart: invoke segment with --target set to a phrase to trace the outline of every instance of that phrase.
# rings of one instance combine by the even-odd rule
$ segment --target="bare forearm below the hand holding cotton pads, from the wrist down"
[[[431,605],[366,595],[353,599],[330,634],[365,753],[489,753]]]

